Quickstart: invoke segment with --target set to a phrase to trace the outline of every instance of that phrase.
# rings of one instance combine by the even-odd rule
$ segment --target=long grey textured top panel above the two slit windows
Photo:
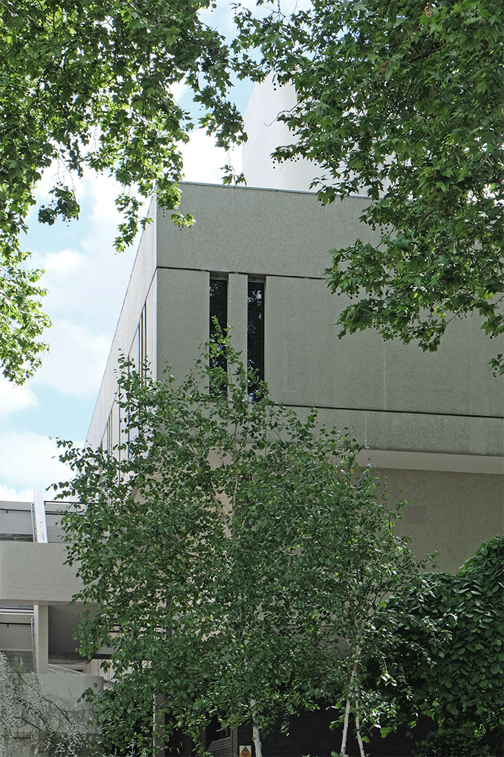
[[[322,276],[331,261],[328,250],[351,245],[357,234],[365,241],[377,238],[357,220],[366,204],[349,198],[322,207],[310,192],[183,184],[180,209],[193,213],[196,223],[178,229],[170,212],[158,212],[158,263],[261,276]]]

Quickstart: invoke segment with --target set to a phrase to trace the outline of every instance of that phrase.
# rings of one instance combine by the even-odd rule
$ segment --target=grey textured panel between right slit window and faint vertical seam
[[[338,339],[338,298],[325,282],[266,279],[266,380],[291,404],[384,407],[383,340],[373,332]]]

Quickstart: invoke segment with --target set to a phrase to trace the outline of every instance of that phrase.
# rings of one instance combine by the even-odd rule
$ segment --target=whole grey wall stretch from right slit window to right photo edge
[[[436,353],[366,331],[338,338],[347,300],[313,279],[268,277],[266,365],[273,396],[288,403],[428,413],[502,415],[495,347],[476,319],[456,322]]]

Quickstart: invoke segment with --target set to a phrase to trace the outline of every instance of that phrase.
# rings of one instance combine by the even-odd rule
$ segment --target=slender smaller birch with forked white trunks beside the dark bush
[[[378,484],[378,479],[368,482],[371,491]],[[422,629],[424,646],[415,648],[419,665],[429,659],[440,637],[431,618],[418,618],[401,603],[405,593],[425,593],[425,578],[419,570],[425,569],[428,559],[417,562],[406,546],[407,540],[396,536],[398,512],[387,506],[386,493],[383,496],[384,501],[378,504],[368,494],[366,506],[354,507],[348,502],[338,513],[342,534],[334,568],[341,609],[332,618],[331,627],[346,640],[348,649],[334,681],[331,701],[340,713],[334,724],[343,724],[341,755],[347,753],[350,716],[361,757],[365,757],[363,742],[369,741],[372,731],[378,729],[385,737],[401,722],[399,703],[410,702],[412,691],[406,676],[397,674],[393,678],[389,656],[390,648],[403,637],[403,629],[413,624]]]

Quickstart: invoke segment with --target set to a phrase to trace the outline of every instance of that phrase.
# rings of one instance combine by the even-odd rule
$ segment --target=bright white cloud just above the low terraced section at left
[[[55,481],[67,480],[70,471],[56,458],[58,447],[48,436],[32,431],[5,431],[0,437],[0,479],[2,497],[13,491],[23,496],[33,489],[45,489]],[[11,499],[11,497],[6,497]]]

